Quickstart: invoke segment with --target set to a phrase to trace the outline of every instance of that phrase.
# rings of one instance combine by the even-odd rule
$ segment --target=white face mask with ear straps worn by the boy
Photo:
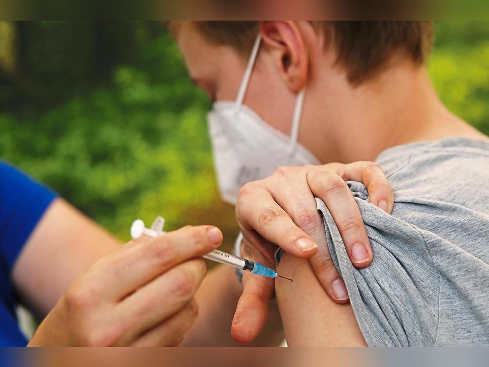
[[[298,142],[304,90],[297,96],[290,137],[243,105],[260,40],[258,36],[236,101],[215,102],[207,116],[221,197],[233,205],[244,184],[270,176],[279,166],[320,164]]]

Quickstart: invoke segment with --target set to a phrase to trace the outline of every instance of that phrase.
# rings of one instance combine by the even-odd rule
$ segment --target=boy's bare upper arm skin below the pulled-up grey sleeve
[[[285,254],[278,272],[294,279],[275,283],[289,346],[366,346],[352,306],[328,296],[310,261]]]

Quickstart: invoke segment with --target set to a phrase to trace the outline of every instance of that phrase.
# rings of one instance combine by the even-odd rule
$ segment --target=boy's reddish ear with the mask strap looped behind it
[[[264,46],[272,55],[284,82],[295,93],[306,85],[309,53],[293,21],[264,21],[260,25]]]

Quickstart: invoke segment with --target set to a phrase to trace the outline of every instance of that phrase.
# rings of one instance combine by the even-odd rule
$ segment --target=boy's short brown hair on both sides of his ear
[[[245,59],[249,56],[260,22],[197,22],[197,29],[210,42],[228,45]],[[422,65],[433,42],[432,22],[311,22],[324,33],[353,84],[375,75],[385,67],[393,52],[403,52],[414,64]]]

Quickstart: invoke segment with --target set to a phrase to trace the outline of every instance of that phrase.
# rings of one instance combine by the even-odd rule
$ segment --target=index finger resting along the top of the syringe
[[[216,249],[222,232],[213,226],[187,226],[123,249],[98,264],[90,278],[103,297],[121,299],[174,266]]]

